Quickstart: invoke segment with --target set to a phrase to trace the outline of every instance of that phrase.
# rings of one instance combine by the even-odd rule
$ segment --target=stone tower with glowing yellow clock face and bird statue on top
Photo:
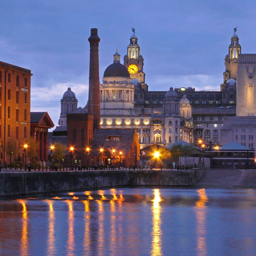
[[[138,45],[135,29],[132,29],[132,32],[130,44],[127,47],[127,54],[124,56],[124,66],[128,69],[131,79],[138,79],[142,88],[147,90],[145,73],[143,72],[144,59],[140,54],[140,46]]]

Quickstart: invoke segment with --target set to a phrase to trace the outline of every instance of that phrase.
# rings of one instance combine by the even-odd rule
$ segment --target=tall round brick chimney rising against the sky
[[[100,77],[98,29],[91,28],[88,113],[94,115],[93,133],[100,128]]]

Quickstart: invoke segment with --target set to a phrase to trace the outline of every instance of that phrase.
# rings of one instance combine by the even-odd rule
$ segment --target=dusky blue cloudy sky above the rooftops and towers
[[[88,99],[90,28],[98,28],[100,82],[116,47],[126,54],[131,28],[150,90],[215,89],[237,33],[242,53],[256,53],[255,1],[1,1],[0,60],[31,69],[31,111],[55,125],[68,87]]]

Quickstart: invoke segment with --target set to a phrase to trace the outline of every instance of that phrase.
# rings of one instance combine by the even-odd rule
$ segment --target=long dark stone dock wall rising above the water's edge
[[[102,170],[62,172],[1,172],[0,196],[90,189],[114,186],[188,186],[194,185],[204,169]]]

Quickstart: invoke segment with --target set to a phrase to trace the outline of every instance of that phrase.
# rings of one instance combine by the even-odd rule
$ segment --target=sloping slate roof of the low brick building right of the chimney
[[[127,156],[135,132],[136,128],[97,129],[94,134],[93,144],[91,145],[90,155],[98,156],[100,148],[111,148],[111,150],[115,149],[116,152],[121,151],[124,156]],[[119,140],[107,140],[107,136],[119,136]]]

